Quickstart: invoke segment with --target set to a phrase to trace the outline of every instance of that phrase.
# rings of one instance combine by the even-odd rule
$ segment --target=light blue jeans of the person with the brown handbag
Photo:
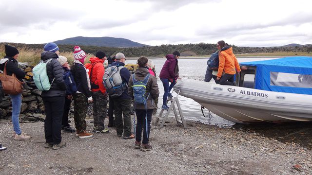
[[[16,134],[20,135],[20,106],[21,94],[9,95],[12,101],[12,123]]]

